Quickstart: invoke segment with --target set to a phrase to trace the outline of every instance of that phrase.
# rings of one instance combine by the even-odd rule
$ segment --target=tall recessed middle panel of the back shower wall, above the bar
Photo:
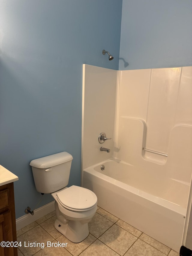
[[[146,148],[167,152],[170,130],[174,126],[181,68],[152,69]]]

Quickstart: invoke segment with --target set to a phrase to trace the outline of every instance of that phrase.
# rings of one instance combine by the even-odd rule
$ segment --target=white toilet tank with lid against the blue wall
[[[52,193],[67,186],[69,182],[72,155],[60,152],[30,162],[35,187],[40,193]]]

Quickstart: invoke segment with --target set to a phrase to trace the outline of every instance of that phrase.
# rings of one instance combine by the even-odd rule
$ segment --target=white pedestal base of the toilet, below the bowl
[[[63,224],[56,219],[54,226],[56,230],[73,243],[82,242],[89,234],[88,223],[82,224],[82,221],[69,220],[66,224]]]

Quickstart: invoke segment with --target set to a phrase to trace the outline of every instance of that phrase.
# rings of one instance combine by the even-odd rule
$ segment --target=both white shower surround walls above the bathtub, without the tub
[[[116,157],[189,184],[192,67],[115,71],[83,65],[83,70],[83,168]],[[112,139],[99,144],[101,132]],[[101,152],[101,146],[111,152]]]

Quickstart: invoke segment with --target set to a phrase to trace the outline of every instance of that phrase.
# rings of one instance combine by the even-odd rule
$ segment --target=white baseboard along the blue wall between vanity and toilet
[[[19,229],[31,224],[33,221],[38,220],[39,218],[43,217],[44,215],[54,211],[55,210],[54,204],[55,204],[55,200],[36,209],[34,211],[34,215],[31,215],[30,213],[28,213],[28,214],[23,215],[20,218],[16,219],[16,230],[19,230]]]

